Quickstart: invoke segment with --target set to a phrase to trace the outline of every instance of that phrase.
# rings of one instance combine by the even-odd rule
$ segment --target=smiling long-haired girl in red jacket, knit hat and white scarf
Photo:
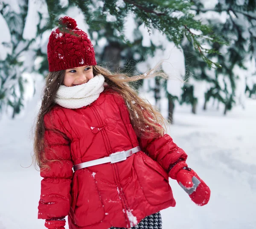
[[[164,134],[163,117],[128,86],[144,75],[97,66],[70,17],[52,30],[47,54],[34,143],[43,177],[38,218],[47,228],[64,229],[66,215],[70,229],[162,228],[159,211],[175,206],[169,177],[207,204],[209,187]]]

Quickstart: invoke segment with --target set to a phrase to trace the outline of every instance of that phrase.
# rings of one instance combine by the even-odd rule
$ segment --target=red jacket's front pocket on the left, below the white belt
[[[72,204],[73,220],[77,226],[90,226],[101,222],[105,217],[95,177],[96,175],[88,169],[77,171],[77,197]]]

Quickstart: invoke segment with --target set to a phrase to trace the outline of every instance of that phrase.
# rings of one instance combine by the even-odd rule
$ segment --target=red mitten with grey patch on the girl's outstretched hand
[[[177,180],[178,184],[198,206],[204,206],[210,198],[210,189],[194,170],[187,167],[185,161],[177,163],[169,172],[169,177]]]

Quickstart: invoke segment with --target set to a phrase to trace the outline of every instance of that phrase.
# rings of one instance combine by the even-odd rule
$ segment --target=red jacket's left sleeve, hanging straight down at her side
[[[41,169],[41,196],[38,218],[51,220],[68,215],[71,205],[71,182],[73,163],[70,155],[70,140],[65,136],[65,120],[56,112],[44,117],[45,157],[49,169]],[[48,222],[48,224],[50,224]],[[47,223],[45,224],[47,226]],[[48,227],[50,228],[50,227]],[[55,228],[59,228],[57,225]]]

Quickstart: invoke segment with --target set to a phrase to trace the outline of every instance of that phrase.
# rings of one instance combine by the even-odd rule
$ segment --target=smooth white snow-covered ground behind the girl
[[[37,94],[17,119],[0,120],[0,229],[44,228],[37,219],[41,177],[34,166],[23,168],[32,163],[38,104]],[[177,107],[174,119],[168,132],[209,185],[211,199],[196,206],[170,179],[177,206],[162,211],[163,229],[255,229],[256,100],[246,100],[246,110],[234,109],[226,117]]]

